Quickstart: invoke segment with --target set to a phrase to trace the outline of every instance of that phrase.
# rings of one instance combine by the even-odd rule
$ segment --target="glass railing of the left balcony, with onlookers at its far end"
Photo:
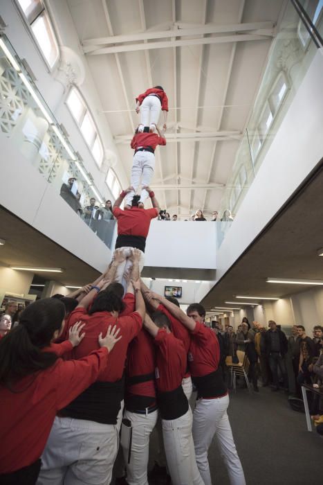
[[[82,159],[6,36],[0,37],[0,130],[66,204],[111,247],[115,221]]]

